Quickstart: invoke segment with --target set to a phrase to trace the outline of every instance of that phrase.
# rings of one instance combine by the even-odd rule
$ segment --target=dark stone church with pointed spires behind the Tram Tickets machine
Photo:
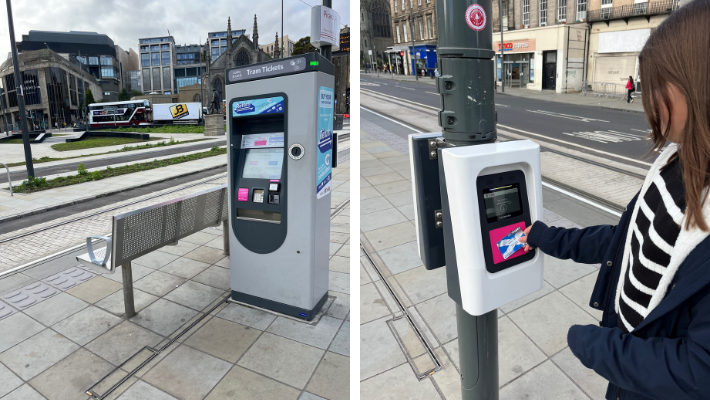
[[[271,56],[259,48],[259,29],[256,23],[256,15],[254,15],[254,33],[251,39],[246,35],[232,38],[232,19],[230,17],[227,20],[227,43],[231,43],[227,47],[227,51],[220,54],[215,60],[210,58],[207,60],[208,67],[202,77],[202,81],[207,83],[206,87],[209,88],[209,94],[205,93],[206,107],[209,107],[213,91],[217,91],[220,101],[224,100],[226,93],[225,72],[227,69],[272,59]],[[205,44],[205,48],[210,48],[209,41]],[[209,54],[207,56],[209,57]]]

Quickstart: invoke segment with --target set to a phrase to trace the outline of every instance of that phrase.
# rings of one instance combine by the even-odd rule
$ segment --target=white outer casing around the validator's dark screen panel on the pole
[[[543,254],[539,250],[535,250],[532,259],[521,257],[519,262],[509,261],[509,266],[498,272],[489,272],[485,251],[486,246],[490,249],[490,243],[484,236],[489,232],[486,215],[481,215],[484,207],[479,207],[482,194],[477,185],[482,176],[522,171],[526,193],[520,195],[527,196],[522,207],[527,203],[529,223],[541,220],[540,146],[529,140],[516,140],[444,148],[440,156],[446,177],[446,193],[442,197],[449,205],[463,309],[471,315],[483,315],[541,289]]]

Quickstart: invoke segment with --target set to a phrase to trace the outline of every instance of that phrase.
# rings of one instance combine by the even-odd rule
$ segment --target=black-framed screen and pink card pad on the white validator
[[[481,235],[488,272],[499,272],[531,260],[518,240],[530,226],[530,207],[523,171],[480,176],[477,179]]]

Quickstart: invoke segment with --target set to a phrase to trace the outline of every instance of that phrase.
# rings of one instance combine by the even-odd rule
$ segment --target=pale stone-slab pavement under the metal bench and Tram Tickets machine
[[[332,182],[335,211],[350,196],[348,161],[333,170]],[[95,233],[109,229],[105,220],[82,223],[93,224]],[[225,303],[230,258],[221,227],[133,261],[138,314],[130,320],[120,271],[96,275],[77,268],[74,257],[84,249],[0,275],[0,399],[88,399],[86,390],[104,394],[134,369],[107,399],[348,399],[349,229],[344,207],[331,216],[330,300],[315,324]],[[55,285],[56,275],[69,283]],[[43,296],[13,309],[8,303],[17,291]],[[146,346],[166,345],[140,365],[152,354]]]

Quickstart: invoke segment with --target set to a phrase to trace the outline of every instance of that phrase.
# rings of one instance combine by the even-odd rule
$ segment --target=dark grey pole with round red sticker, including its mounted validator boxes
[[[542,288],[540,147],[497,141],[491,0],[436,0],[441,132],[410,135],[419,255],[446,267],[463,400],[498,400],[497,308]],[[502,18],[502,17],[501,17]]]

